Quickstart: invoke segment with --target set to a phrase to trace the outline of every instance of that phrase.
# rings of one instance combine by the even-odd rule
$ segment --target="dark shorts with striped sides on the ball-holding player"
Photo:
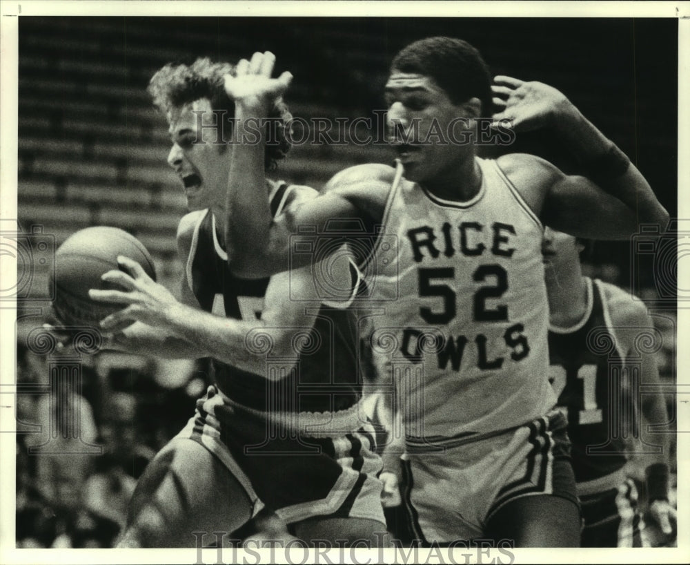
[[[288,524],[311,517],[385,524],[374,428],[359,404],[339,412],[271,414],[208,387],[177,438],[197,441],[228,468],[253,502]]]

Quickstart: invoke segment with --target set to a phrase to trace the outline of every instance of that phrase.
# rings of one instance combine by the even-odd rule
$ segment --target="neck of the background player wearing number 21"
[[[579,266],[572,273],[552,274],[546,284],[549,297],[549,322],[570,327],[582,320],[587,310],[587,281]]]

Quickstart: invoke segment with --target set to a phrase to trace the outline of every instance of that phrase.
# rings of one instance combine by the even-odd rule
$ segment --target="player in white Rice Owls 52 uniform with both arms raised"
[[[228,77],[240,123],[264,116],[262,99],[288,82]],[[556,399],[545,378],[543,225],[624,238],[638,222],[665,225],[668,214],[629,159],[562,93],[509,77],[492,87],[480,54],[464,41],[435,37],[404,48],[385,92],[397,167],[343,171],[324,194],[276,218],[259,193],[264,147],[235,148],[228,225],[262,244],[233,241],[233,269],[265,276],[308,263],[311,256],[290,253],[290,237],[311,226],[326,238],[334,218],[358,218],[395,236],[393,247],[372,236],[363,269],[370,300],[385,310],[372,318],[372,345],[380,376],[397,388],[417,537],[577,546],[566,421],[551,412]],[[482,160],[475,144],[457,142],[476,133],[492,98],[502,110],[495,117],[511,119],[518,135],[553,126],[582,175],[564,175],[533,155]]]

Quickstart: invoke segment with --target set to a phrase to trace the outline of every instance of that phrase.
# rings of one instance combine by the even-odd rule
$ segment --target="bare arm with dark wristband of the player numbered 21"
[[[634,300],[616,287],[607,285],[604,289],[608,295],[611,323],[616,330],[616,336],[622,341],[620,345],[625,352],[637,354],[640,347],[635,347],[635,343],[644,340],[646,334],[653,332],[654,325],[647,308],[642,302]],[[653,354],[643,354],[641,362],[642,385],[652,388],[659,385],[659,371]],[[663,533],[669,535],[673,531],[671,524],[676,522],[676,509],[669,504],[671,434],[653,432],[653,428],[663,426],[669,421],[664,395],[642,394],[638,412],[643,447],[649,451],[653,451],[654,446],[661,449],[659,453],[638,454],[634,462],[636,466],[644,469],[651,516]]]

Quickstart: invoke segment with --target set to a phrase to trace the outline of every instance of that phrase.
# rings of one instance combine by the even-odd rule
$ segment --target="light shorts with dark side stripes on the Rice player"
[[[553,495],[578,504],[566,428],[555,411],[486,439],[449,438],[444,452],[414,452],[408,445],[403,504],[415,538],[480,538],[497,510],[520,497]]]

